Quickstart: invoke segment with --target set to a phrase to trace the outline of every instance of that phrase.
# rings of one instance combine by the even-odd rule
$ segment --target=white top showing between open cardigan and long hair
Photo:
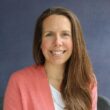
[[[61,97],[61,93],[57,89],[55,89],[51,84],[50,89],[52,93],[55,110],[64,110],[65,105]]]

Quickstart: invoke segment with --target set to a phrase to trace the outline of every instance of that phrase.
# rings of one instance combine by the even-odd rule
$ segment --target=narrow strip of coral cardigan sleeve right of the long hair
[[[92,87],[92,110],[97,110],[97,82]]]

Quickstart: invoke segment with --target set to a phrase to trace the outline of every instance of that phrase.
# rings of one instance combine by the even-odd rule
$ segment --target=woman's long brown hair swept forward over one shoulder
[[[43,65],[45,58],[41,51],[43,21],[53,14],[67,17],[71,23],[73,51],[66,63],[61,94],[66,110],[91,110],[92,99],[90,85],[95,83],[92,65],[83,39],[82,29],[76,15],[62,7],[49,8],[38,18],[34,42],[33,56],[37,65]]]

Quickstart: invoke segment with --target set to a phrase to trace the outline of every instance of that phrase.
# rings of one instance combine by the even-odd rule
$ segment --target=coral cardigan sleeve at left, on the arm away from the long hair
[[[19,87],[14,75],[10,77],[5,91],[3,110],[23,110]]]

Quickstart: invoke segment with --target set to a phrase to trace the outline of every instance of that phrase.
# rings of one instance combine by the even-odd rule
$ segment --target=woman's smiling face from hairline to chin
[[[43,21],[42,53],[45,63],[64,65],[72,54],[71,23],[63,15],[51,15]]]

